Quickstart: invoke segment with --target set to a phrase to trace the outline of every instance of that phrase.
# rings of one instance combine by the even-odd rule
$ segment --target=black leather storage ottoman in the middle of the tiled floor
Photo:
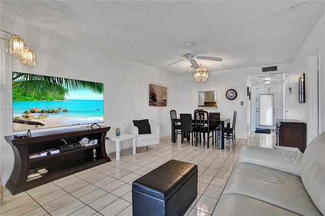
[[[198,166],[170,160],[132,183],[133,216],[183,215],[198,194]]]

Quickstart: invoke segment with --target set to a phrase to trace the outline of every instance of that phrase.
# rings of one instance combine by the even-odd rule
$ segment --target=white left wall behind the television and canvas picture
[[[131,120],[149,118],[152,124],[160,125],[161,137],[170,135],[169,111],[177,106],[175,75],[47,35],[34,26],[26,27],[20,23],[19,20],[8,21],[2,14],[1,28],[26,38],[29,46],[40,53],[40,67],[25,68],[18,64],[16,58],[5,51],[6,43],[1,40],[0,106],[12,105],[12,71],[104,82],[105,122],[102,125],[111,126],[109,133],[115,133],[117,127],[122,133],[131,132]],[[167,87],[167,107],[149,107],[150,83]],[[0,114],[0,163],[5,183],[14,166],[12,148],[4,139],[4,136],[14,134],[12,110],[1,109]],[[115,151],[114,142],[107,141],[106,145],[108,152]],[[122,143],[122,148],[128,146],[132,146],[131,140]]]

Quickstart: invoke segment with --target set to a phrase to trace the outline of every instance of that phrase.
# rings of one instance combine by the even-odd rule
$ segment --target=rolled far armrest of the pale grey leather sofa
[[[300,176],[303,153],[245,145],[239,156],[240,163],[255,164]]]

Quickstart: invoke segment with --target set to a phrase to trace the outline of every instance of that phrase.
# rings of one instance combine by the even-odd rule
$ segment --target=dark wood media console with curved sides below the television
[[[10,193],[15,195],[64,176],[111,161],[105,149],[105,137],[110,128],[106,126],[94,129],[80,127],[34,133],[31,134],[32,137],[30,138],[6,136],[5,139],[11,145],[15,156],[14,169],[7,181],[6,187]],[[88,137],[90,140],[98,139],[98,144],[71,149],[54,155],[48,153],[44,157],[29,158],[29,155],[32,153],[62,145],[61,139],[64,139],[67,143],[76,143],[84,137]],[[93,158],[93,148],[96,149],[95,159]],[[48,172],[40,178],[26,181],[29,169],[41,166],[45,167]]]

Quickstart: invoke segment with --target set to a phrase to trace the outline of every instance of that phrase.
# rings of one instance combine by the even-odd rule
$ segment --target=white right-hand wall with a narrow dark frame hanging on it
[[[312,125],[317,120],[314,115],[315,110],[319,109],[319,132],[325,131],[325,37],[324,37],[324,14],[310,33],[307,40],[297,53],[293,60],[293,73],[291,74],[291,118],[301,120],[307,123],[307,143],[309,143],[317,134],[316,130],[313,130]],[[317,96],[313,94],[312,89],[316,87],[317,82],[313,80],[314,76],[311,74],[309,68],[308,58],[309,56],[320,54],[320,85],[319,85],[319,107],[317,108]],[[306,103],[300,104],[298,101],[298,77],[305,73],[306,82]]]

